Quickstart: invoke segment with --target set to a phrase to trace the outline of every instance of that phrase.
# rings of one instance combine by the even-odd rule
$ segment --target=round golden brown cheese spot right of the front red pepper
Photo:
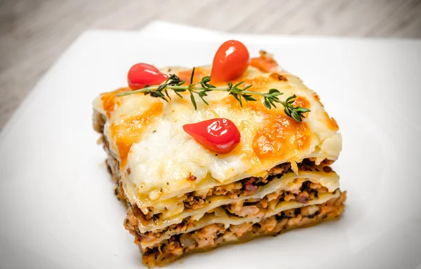
[[[257,130],[252,148],[260,160],[296,156],[309,147],[311,132],[305,123],[286,115],[270,115]]]

